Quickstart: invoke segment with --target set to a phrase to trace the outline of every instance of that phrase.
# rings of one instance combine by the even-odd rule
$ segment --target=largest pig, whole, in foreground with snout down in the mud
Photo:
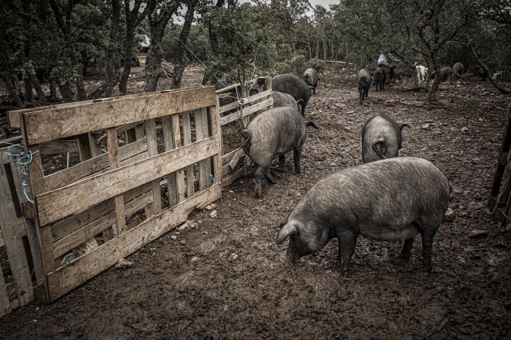
[[[339,241],[341,272],[350,268],[357,236],[404,240],[400,258],[408,259],[421,233],[423,270],[431,270],[433,236],[449,205],[450,185],[431,162],[389,158],[355,165],[319,180],[280,225],[277,244],[290,237],[288,260]]]

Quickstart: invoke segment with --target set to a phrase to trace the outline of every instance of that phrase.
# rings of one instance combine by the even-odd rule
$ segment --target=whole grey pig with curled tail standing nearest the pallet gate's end
[[[275,180],[269,172],[272,160],[278,156],[280,167],[286,164],[285,154],[293,150],[294,171],[301,173],[300,156],[305,142],[305,129],[314,122],[306,122],[304,117],[292,107],[275,107],[255,116],[245,130],[241,131],[241,148],[258,165],[255,171],[255,194],[263,197],[263,177],[270,183]]]

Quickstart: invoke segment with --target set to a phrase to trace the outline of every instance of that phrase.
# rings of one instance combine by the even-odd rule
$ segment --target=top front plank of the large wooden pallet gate
[[[21,114],[26,145],[215,105],[213,86]]]

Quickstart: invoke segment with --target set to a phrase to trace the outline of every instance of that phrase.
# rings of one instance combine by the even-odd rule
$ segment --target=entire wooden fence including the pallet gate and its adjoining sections
[[[242,98],[220,106],[234,88]],[[22,148],[0,144],[0,189],[10,193],[0,202],[0,247],[12,273],[8,282],[0,273],[0,317],[34,297],[54,301],[219,199],[249,162],[238,148],[224,154],[223,130],[239,139],[231,123],[248,124],[272,103],[271,79],[260,77],[217,93],[196,87],[8,112],[22,131],[8,142]],[[34,203],[9,148],[33,153]],[[71,166],[53,169],[52,158],[66,154]]]

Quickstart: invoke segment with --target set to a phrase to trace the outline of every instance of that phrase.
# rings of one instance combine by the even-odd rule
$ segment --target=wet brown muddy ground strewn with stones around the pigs
[[[196,85],[189,77],[184,85]],[[424,92],[402,92],[407,79],[371,88],[360,105],[354,75],[332,70],[326,83],[306,110],[320,130],[307,132],[301,175],[288,154],[286,172],[257,199],[250,171],[223,189],[217,217],[195,211],[195,228],[135,252],[131,268],[12,312],[0,338],[511,338],[511,233],[486,207],[511,99],[467,80],[440,86],[432,105]],[[432,273],[421,272],[420,236],[405,264],[394,262],[400,242],[359,237],[346,276],[337,240],[286,262],[278,225],[319,178],[361,162],[361,128],[377,113],[410,124],[401,156],[432,161],[453,187],[456,218],[435,236]],[[487,236],[471,238],[473,230]]]

